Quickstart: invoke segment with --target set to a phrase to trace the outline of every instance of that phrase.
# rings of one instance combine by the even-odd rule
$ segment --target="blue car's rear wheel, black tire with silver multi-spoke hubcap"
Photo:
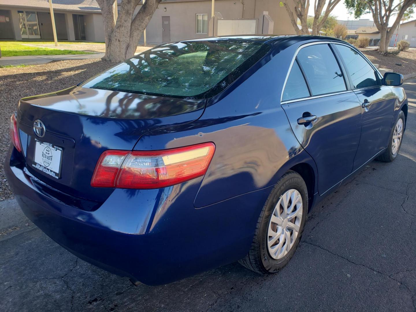
[[[251,248],[240,263],[260,274],[272,274],[282,269],[292,258],[302,237],[307,207],[305,181],[295,171],[288,171],[267,198]]]

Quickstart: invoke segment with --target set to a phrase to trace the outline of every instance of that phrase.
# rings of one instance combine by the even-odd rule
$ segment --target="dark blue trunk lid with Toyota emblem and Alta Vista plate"
[[[131,150],[148,131],[196,120],[205,103],[82,87],[21,99],[17,121],[27,169],[52,188],[103,202],[113,189],[90,185],[103,151]],[[45,126],[43,137],[35,134],[35,121]]]

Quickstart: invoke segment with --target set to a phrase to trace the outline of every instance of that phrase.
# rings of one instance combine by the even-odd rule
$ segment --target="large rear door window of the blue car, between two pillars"
[[[347,90],[338,62],[328,45],[311,45],[299,51],[297,58],[305,72],[312,95]]]

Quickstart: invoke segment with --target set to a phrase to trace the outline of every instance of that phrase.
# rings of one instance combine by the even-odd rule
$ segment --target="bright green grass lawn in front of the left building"
[[[93,54],[92,52],[59,50],[52,48],[30,47],[25,44],[51,44],[45,41],[0,41],[2,57],[27,55],[61,55],[61,54]],[[58,42],[60,44],[80,44],[84,42]],[[89,43],[88,43],[89,44]]]

